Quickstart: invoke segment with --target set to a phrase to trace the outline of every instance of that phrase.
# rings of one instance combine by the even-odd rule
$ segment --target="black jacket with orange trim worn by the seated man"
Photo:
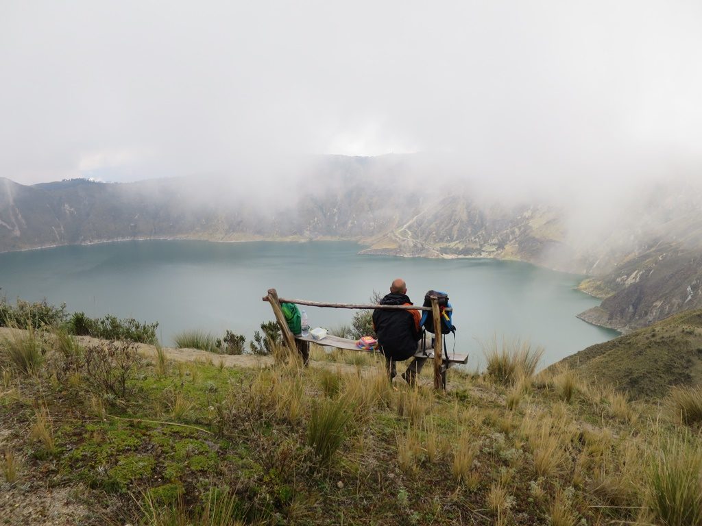
[[[380,300],[381,305],[412,305],[404,294],[388,294]],[[414,309],[373,311],[373,328],[378,336],[378,345],[385,356],[393,360],[406,360],[417,351],[422,333],[419,328],[419,311]]]

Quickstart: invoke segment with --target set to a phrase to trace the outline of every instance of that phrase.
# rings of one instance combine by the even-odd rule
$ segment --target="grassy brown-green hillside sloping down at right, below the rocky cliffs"
[[[702,310],[685,311],[592,345],[560,365],[634,398],[661,398],[670,386],[702,384]]]

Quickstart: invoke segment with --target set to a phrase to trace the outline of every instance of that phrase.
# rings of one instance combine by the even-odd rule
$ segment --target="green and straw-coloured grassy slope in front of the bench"
[[[382,363],[343,353],[315,351],[309,368],[279,353],[274,367],[234,370],[45,340],[56,343],[31,374],[0,348],[0,490],[31,502],[47,487],[72,487],[81,524],[644,525],[702,516],[700,441],[679,414],[569,371],[534,376],[522,347],[501,360],[518,363],[515,374],[451,370],[449,391],[434,393],[431,367],[415,388],[399,381],[393,391]],[[107,356],[112,370],[86,367],[86,356]],[[125,389],[107,389],[121,375]],[[14,517],[2,520],[22,523]]]

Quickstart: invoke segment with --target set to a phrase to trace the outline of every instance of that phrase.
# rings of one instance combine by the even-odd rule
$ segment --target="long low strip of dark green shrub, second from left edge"
[[[107,314],[104,318],[90,318],[84,312],[75,312],[68,321],[68,331],[77,336],[102,339],[120,339],[154,344],[159,323],[140,323],[134,318],[119,319]]]

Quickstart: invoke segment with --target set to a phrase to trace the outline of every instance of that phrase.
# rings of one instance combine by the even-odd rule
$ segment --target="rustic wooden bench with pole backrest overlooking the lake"
[[[439,303],[437,297],[431,297],[432,306],[408,306],[408,305],[366,305],[366,304],[340,304],[340,303],[322,303],[322,302],[311,302],[305,299],[284,299],[279,298],[277,291],[272,288],[268,290],[268,294],[263,297],[264,302],[269,302],[275,319],[278,322],[280,330],[283,335],[284,343],[291,349],[291,351],[298,351],[303,356],[303,361],[307,365],[307,361],[310,359],[310,342],[318,344],[321,346],[336,347],[337,349],[347,349],[349,351],[361,351],[361,352],[378,352],[378,351],[368,351],[366,349],[359,349],[356,346],[355,340],[341,338],[333,335],[326,335],[326,337],[316,340],[310,336],[303,337],[301,335],[293,335],[291,330],[288,328],[288,323],[285,320],[282,309],[280,308],[281,303],[294,303],[298,305],[310,305],[319,307],[331,307],[333,309],[383,309],[383,310],[418,310],[418,311],[432,311],[432,316],[434,318],[434,326],[440,327],[440,311]],[[446,309],[449,310],[449,309]],[[458,354],[458,353],[446,353],[444,356],[443,351],[443,338],[435,338],[434,346],[426,349],[426,351],[419,350],[414,355],[417,358],[432,358],[434,361],[434,387],[435,389],[446,389],[446,370],[455,365],[456,363],[465,364],[468,362],[468,354]]]

